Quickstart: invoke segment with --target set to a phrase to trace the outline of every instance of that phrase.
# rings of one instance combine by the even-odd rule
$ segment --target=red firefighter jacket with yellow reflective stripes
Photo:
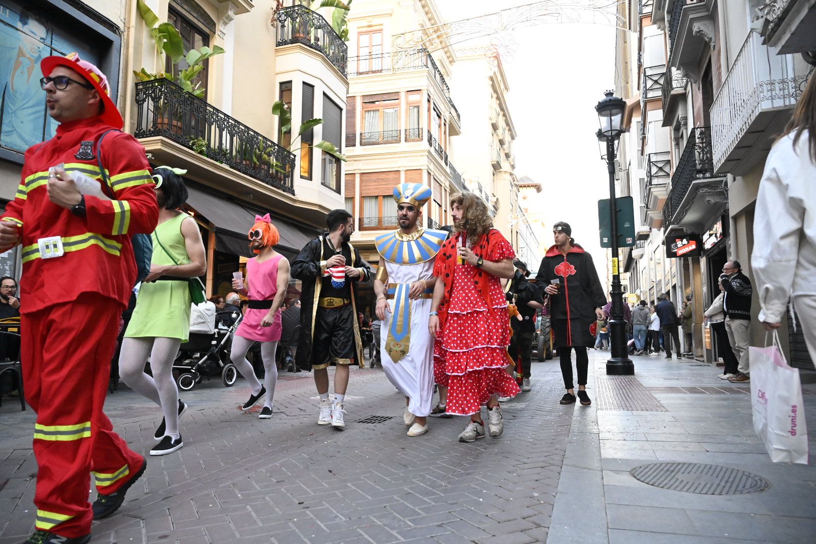
[[[86,195],[86,216],[48,199],[48,168],[64,163],[65,170],[82,172],[100,184],[95,142],[110,127],[91,117],[63,123],[54,138],[25,153],[22,181],[14,201],[0,220],[20,227],[23,276],[20,311],[42,308],[95,293],[123,305],[130,299],[136,265],[131,237],[156,228],[158,206],[150,166],[144,148],[131,135],[112,132],[105,136],[102,164],[109,173],[106,194],[115,200]],[[43,259],[43,238],[60,237],[64,254]],[[47,247],[45,254],[48,255]]]

